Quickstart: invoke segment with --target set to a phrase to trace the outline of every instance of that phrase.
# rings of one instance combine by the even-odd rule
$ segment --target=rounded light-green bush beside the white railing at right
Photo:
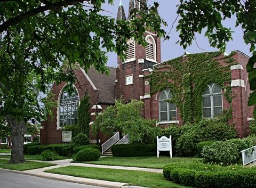
[[[202,156],[205,162],[212,162],[219,165],[235,164],[239,159],[236,144],[229,142],[214,142],[209,146],[204,146]]]

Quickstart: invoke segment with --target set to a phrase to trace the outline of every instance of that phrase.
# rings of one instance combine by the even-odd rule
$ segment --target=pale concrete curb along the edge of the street
[[[16,173],[16,174],[37,176],[37,177],[42,177],[42,178],[47,178],[47,179],[55,179],[58,181],[79,183],[79,184],[93,185],[93,186],[102,186],[102,187],[110,187],[110,188],[125,188],[125,185],[127,185],[127,183],[110,182],[110,181],[105,181],[105,180],[81,178],[81,177],[74,177],[74,176],[69,176],[69,177],[73,177],[73,179],[67,179],[67,178],[65,178],[65,177],[67,177],[66,175],[60,175],[63,177],[53,177],[53,176],[51,176],[51,175],[53,175],[51,173],[44,173],[45,175],[42,175],[42,174],[26,173],[26,171],[10,170],[10,169],[3,169],[3,168],[0,168],[0,170],[8,171],[11,173]],[[59,174],[54,174],[54,175],[59,175]],[[81,179],[81,181],[78,181],[78,179]],[[126,188],[130,188],[130,187],[126,187]],[[132,188],[135,188],[135,187],[132,187]]]

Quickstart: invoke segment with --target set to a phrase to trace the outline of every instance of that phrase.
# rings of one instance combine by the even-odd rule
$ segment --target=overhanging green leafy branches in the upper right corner
[[[256,104],[256,1],[252,0],[180,0],[178,5],[180,16],[177,30],[180,31],[178,43],[186,48],[195,39],[195,33],[201,34],[206,28],[205,36],[212,47],[225,51],[226,44],[232,39],[230,28],[223,26],[226,18],[236,17],[236,27],[242,26],[244,42],[250,44],[252,57],[247,63],[250,89],[254,91],[249,97],[249,105]],[[177,17],[178,19],[178,17]],[[256,109],[254,109],[256,118]]]

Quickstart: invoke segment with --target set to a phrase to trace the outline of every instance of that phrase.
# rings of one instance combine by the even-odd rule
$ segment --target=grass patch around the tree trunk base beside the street
[[[54,166],[54,164],[45,163],[45,162],[26,161],[26,162],[23,162],[22,164],[15,164],[15,165],[10,165],[8,164],[8,162],[9,160],[0,159],[0,168],[24,171],[24,170]]]

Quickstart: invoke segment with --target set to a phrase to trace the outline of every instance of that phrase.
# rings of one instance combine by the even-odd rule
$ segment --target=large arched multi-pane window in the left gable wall
[[[73,94],[69,95],[64,88],[60,95],[59,102],[60,127],[76,124],[78,103],[79,97],[76,89],[74,89]]]

